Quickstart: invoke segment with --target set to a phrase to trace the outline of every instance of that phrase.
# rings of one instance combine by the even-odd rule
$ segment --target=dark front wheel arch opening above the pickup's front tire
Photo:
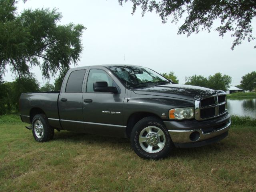
[[[131,132],[132,132],[132,128],[134,127],[134,125],[141,119],[148,117],[148,116],[154,116],[156,118],[159,118],[160,120],[162,120],[158,115],[154,114],[154,113],[150,113],[150,112],[135,112],[133,114],[131,114],[126,122],[126,136],[128,138],[130,138]]]

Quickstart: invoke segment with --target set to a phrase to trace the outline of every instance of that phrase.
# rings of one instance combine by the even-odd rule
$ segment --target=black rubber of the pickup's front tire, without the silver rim
[[[148,126],[156,126],[164,132],[166,143],[164,145],[164,148],[157,153],[148,153],[145,150],[143,150],[142,147],[140,146],[140,143],[139,143],[140,132]],[[131,145],[138,156],[145,159],[156,159],[156,160],[165,158],[166,156],[168,156],[168,154],[170,154],[173,147],[170,134],[166,129],[164,123],[162,122],[162,120],[159,120],[154,117],[143,118],[142,120],[138,121],[135,124],[131,132]]]

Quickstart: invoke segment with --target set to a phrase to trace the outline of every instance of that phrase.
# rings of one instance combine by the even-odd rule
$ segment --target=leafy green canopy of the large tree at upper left
[[[0,0],[0,77],[8,65],[19,78],[29,75],[34,66],[50,78],[76,65],[84,26],[58,25],[62,16],[56,9],[27,9],[18,15],[17,2]]]

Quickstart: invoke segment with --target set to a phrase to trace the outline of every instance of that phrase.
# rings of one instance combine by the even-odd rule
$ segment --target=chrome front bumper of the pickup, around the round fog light
[[[230,120],[225,124],[224,126],[213,130],[212,132],[207,132],[204,133],[204,131],[199,128],[199,129],[193,129],[193,130],[169,130],[169,134],[172,138],[172,142],[174,143],[192,143],[192,142],[200,142],[204,140],[208,140],[214,137],[217,137],[221,134],[224,134],[227,132],[230,128],[231,122]],[[198,132],[200,135],[198,139],[196,140],[191,140],[190,136],[192,133]]]

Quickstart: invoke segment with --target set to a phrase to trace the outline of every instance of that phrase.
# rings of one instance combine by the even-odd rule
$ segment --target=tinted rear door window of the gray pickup
[[[71,72],[66,86],[67,93],[82,92],[82,84],[84,80],[85,71],[86,70],[78,70]]]

